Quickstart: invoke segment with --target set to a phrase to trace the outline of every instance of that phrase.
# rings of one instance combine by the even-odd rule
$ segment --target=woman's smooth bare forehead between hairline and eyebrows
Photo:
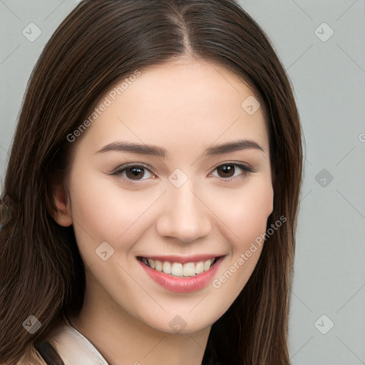
[[[153,66],[110,88],[98,104],[108,106],[85,137],[95,148],[123,139],[181,152],[181,148],[206,148],[237,137],[267,147],[262,108],[247,113],[247,101],[256,101],[250,88],[216,64]]]

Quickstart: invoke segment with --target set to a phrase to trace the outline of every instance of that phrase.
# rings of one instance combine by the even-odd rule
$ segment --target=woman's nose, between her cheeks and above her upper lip
[[[190,180],[181,186],[170,185],[165,193],[156,229],[163,237],[174,237],[181,242],[194,242],[212,232],[209,205],[192,191]]]

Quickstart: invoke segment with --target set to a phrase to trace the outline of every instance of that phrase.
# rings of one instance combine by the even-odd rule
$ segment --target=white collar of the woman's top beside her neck
[[[66,319],[52,333],[52,343],[65,365],[109,365],[101,353]]]

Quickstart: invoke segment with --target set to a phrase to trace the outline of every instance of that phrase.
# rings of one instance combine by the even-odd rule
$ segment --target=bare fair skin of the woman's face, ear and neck
[[[68,184],[55,194],[55,220],[73,224],[86,265],[85,303],[71,321],[110,364],[201,364],[212,324],[252,274],[259,246],[219,288],[209,283],[186,294],[155,283],[136,259],[225,255],[217,279],[264,234],[273,208],[269,138],[262,108],[249,115],[241,107],[250,95],[237,76],[206,61],[153,66],[76,140]],[[207,147],[240,138],[264,152],[202,157]],[[118,140],[157,145],[169,157],[96,153]],[[232,162],[255,172],[217,170]],[[156,174],[110,175],[125,163],[143,163]],[[177,168],[187,176],[181,187],[168,180]],[[101,242],[114,250],[106,261],[96,255]],[[179,333],[169,325],[176,316],[186,324]]]

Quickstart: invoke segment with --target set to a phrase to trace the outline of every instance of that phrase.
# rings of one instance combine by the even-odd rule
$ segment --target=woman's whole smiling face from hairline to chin
[[[211,63],[131,79],[74,142],[67,214],[87,296],[103,297],[95,305],[191,334],[227,311],[259,259],[273,206],[264,116],[250,88]]]

